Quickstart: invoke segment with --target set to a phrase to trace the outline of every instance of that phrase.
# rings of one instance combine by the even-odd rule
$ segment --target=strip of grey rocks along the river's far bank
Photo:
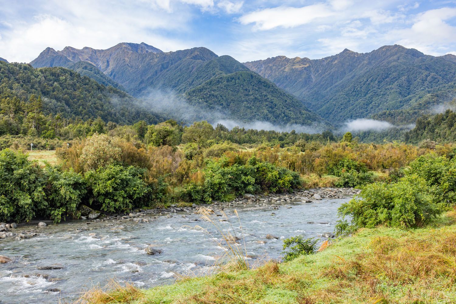
[[[230,202],[219,202],[214,201],[212,204],[192,204],[192,206],[179,207],[177,205],[171,205],[163,209],[136,209],[128,214],[116,214],[116,215],[104,215],[99,211],[93,211],[90,208],[84,206],[82,210],[81,220],[86,224],[96,224],[97,222],[104,221],[134,221],[134,222],[152,222],[158,216],[172,217],[177,212],[195,212],[197,208],[206,207],[214,210],[221,210],[225,206],[236,206],[238,204],[255,204],[257,208],[262,206],[268,206],[272,209],[280,208],[281,204],[293,203],[295,201],[318,201],[321,199],[335,199],[352,196],[358,192],[357,189],[353,188],[314,188],[314,189],[300,189],[292,193],[285,194],[260,194],[252,195],[245,194],[244,196],[238,196],[236,199]],[[185,215],[183,215],[185,216]],[[74,222],[74,221],[72,221]],[[56,225],[64,225],[68,222],[61,222]],[[52,221],[32,221],[30,223],[22,223],[17,225],[16,223],[0,223],[0,240],[4,238],[16,238],[17,240],[36,237],[40,233],[45,232],[46,227],[55,226]],[[62,226],[62,230],[65,228]]]

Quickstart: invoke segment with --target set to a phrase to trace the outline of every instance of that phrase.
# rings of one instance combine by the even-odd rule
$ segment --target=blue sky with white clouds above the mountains
[[[456,0],[0,0],[0,57],[30,62],[50,46],[145,42],[205,46],[240,62],[318,59],[400,44],[456,54]]]

